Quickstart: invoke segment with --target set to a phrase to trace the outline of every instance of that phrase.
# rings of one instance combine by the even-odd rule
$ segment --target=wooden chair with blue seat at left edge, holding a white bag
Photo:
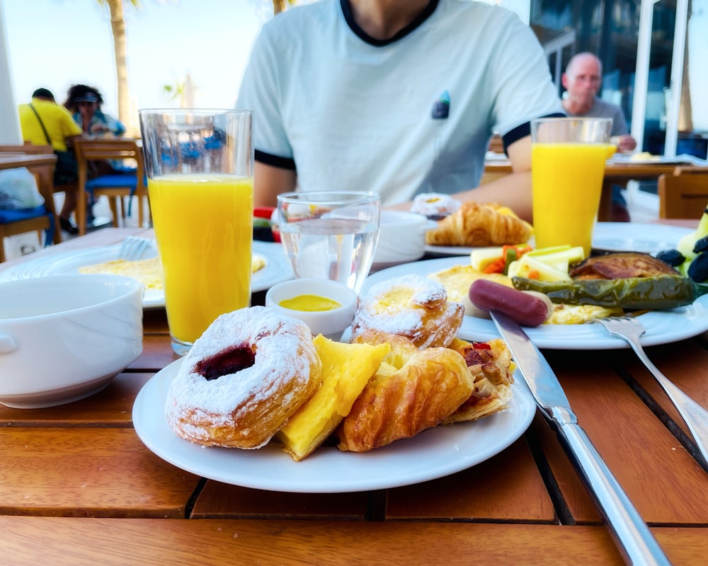
[[[53,200],[54,193],[52,192],[51,175],[53,167],[33,168],[31,165],[26,165],[26,167],[35,175],[38,190],[44,197],[45,204],[23,210],[0,209],[0,262],[6,260],[3,244],[4,239],[10,236],[37,231],[40,242],[44,246],[49,246],[52,242],[61,243],[62,241],[59,226],[57,226],[57,214]]]

